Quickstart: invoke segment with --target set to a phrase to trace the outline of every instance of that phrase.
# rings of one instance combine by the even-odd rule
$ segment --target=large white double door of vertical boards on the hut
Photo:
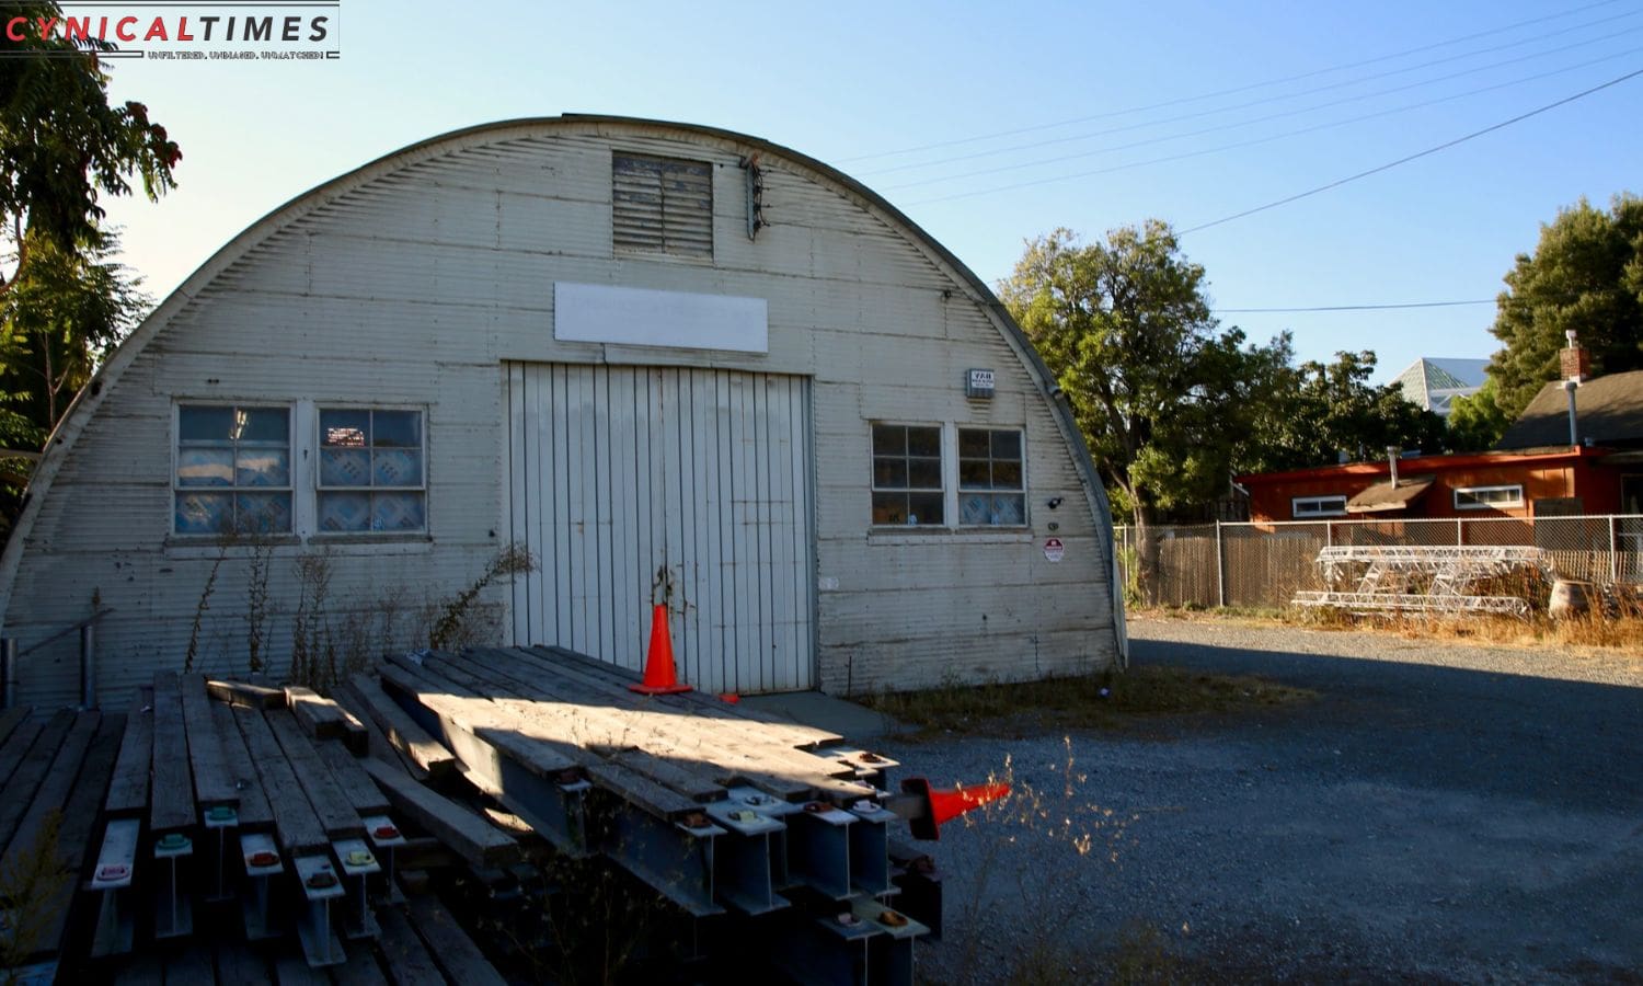
[[[514,641],[641,669],[669,601],[680,677],[815,684],[810,385],[721,370],[508,365]]]

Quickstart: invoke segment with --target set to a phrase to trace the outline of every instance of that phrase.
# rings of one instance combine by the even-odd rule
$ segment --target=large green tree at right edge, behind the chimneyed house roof
[[[1643,368],[1643,199],[1613,197],[1610,209],[1581,199],[1541,225],[1533,256],[1520,253],[1505,276],[1490,332],[1505,343],[1489,365],[1495,401],[1516,419],[1541,386],[1558,380],[1564,332],[1579,334],[1594,373]]]

